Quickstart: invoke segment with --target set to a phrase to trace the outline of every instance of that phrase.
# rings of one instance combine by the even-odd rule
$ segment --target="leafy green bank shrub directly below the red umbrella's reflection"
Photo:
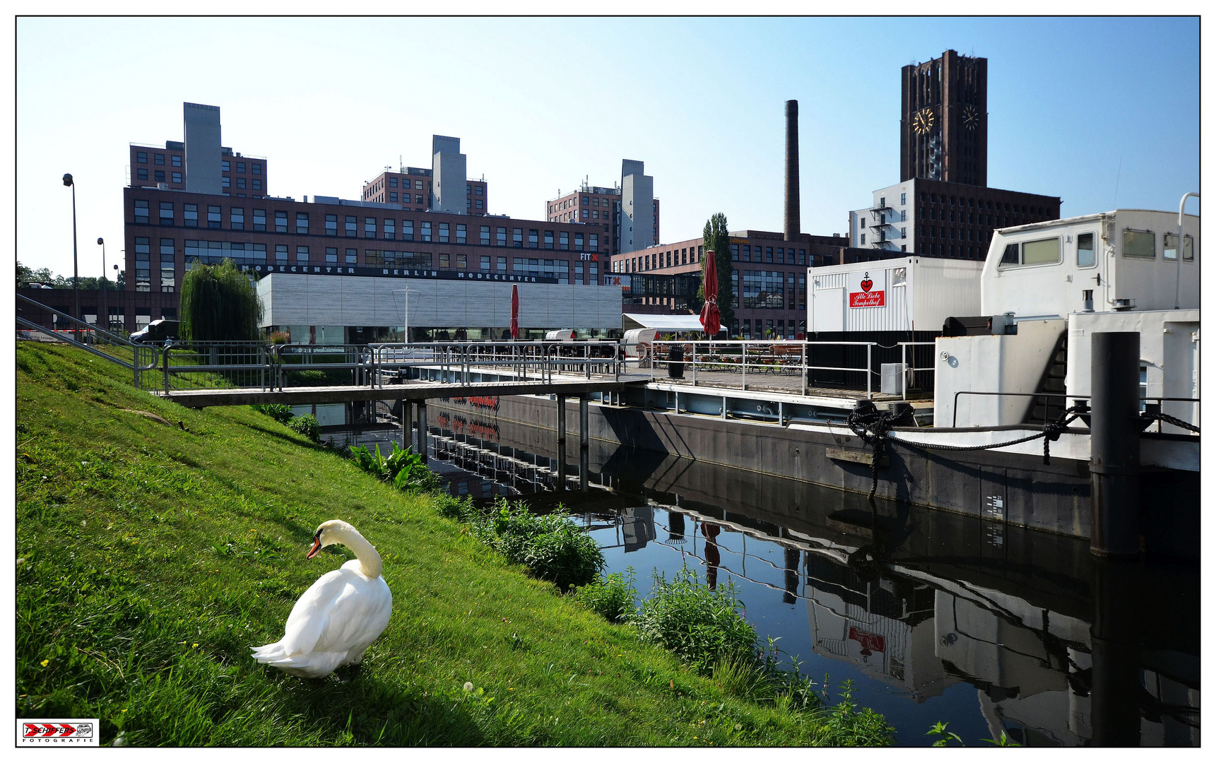
[[[755,627],[739,609],[732,583],[710,590],[685,567],[670,582],[666,576],[655,576],[651,599],[642,604],[635,622],[643,640],[708,673],[724,659],[747,665],[756,661]]]

